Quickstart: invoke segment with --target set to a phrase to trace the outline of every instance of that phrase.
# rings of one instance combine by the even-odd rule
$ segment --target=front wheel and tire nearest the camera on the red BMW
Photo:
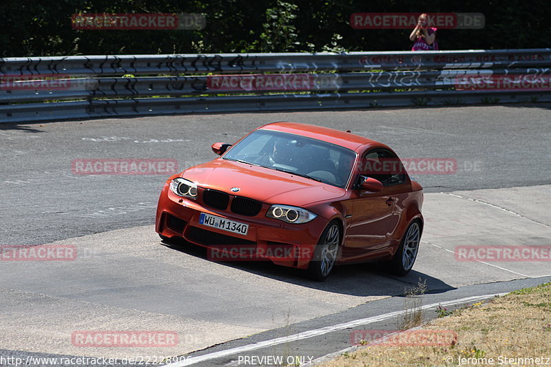
[[[315,247],[313,258],[306,271],[310,279],[321,282],[329,276],[337,261],[340,238],[340,226],[336,220],[333,220],[327,224]]]

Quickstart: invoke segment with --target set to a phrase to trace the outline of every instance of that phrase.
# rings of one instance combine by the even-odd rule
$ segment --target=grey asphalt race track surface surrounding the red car
[[[349,348],[351,328],[397,328],[408,307],[404,290],[419,278],[428,286],[426,319],[435,317],[434,305],[441,302],[453,308],[549,282],[549,261],[465,262],[457,260],[457,248],[551,245],[550,108],[0,125],[0,245],[62,244],[78,251],[72,261],[0,261],[0,356],[112,357],[125,366],[132,364],[124,363],[127,357],[187,353],[189,359],[174,366],[238,366],[245,355],[309,361]],[[211,262],[204,250],[162,242],[154,232],[156,201],[169,175],[72,171],[74,160],[93,158],[176,160],[181,171],[216,158],[211,143],[233,143],[281,120],[351,129],[388,144],[402,159],[456,162],[453,171],[412,175],[425,189],[426,225],[408,276],[361,264],[338,267],[319,283],[264,262]],[[178,343],[82,347],[72,342],[75,331],[173,331]]]

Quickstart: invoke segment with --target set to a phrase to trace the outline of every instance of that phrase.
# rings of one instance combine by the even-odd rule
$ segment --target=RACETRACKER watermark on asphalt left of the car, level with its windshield
[[[87,158],[71,162],[75,175],[171,175],[178,172],[175,159]]]

